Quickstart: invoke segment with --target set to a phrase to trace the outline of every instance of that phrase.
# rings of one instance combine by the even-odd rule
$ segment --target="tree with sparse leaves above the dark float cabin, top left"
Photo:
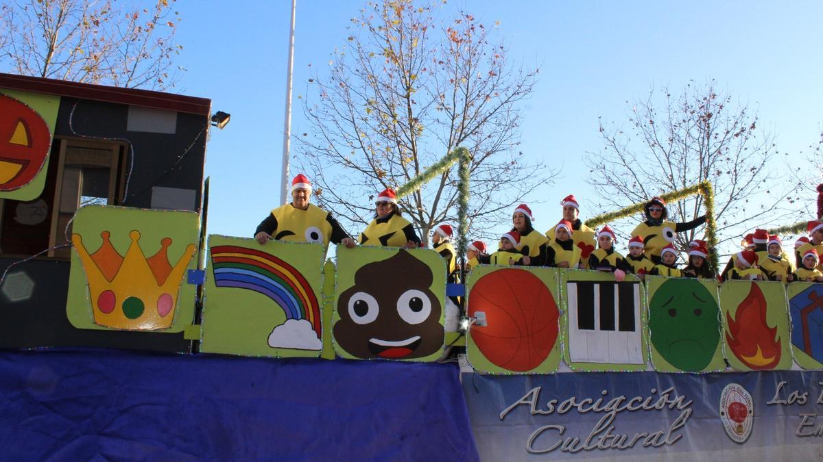
[[[175,0],[171,0],[174,2]],[[178,13],[169,0],[3,0],[0,69],[26,76],[164,90],[174,86]]]

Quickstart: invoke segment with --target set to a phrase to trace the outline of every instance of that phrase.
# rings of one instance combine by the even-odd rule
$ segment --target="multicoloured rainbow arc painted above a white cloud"
[[[216,287],[249,289],[283,308],[286,320],[305,319],[320,337],[320,305],[309,282],[277,256],[246,247],[212,247]]]

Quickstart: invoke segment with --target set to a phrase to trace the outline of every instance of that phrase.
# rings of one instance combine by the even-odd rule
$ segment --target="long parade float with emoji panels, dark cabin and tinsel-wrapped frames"
[[[207,235],[207,99],[0,74],[0,114],[12,459],[787,460],[823,447],[823,284],[504,266],[447,284],[430,249],[326,260],[323,243]],[[470,162],[456,150],[398,188],[458,164],[460,249]],[[710,184],[664,198],[694,194],[712,244]],[[438,363],[454,346],[459,371]]]

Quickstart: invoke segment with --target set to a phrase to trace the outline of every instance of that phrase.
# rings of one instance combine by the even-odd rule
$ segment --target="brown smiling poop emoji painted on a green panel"
[[[340,294],[337,344],[356,358],[412,359],[439,352],[442,307],[430,289],[429,266],[401,250],[361,266]]]

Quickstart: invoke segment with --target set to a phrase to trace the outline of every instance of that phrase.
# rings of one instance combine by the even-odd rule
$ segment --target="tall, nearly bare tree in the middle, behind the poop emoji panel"
[[[373,199],[398,187],[458,146],[471,151],[471,233],[509,221],[551,172],[517,151],[518,104],[537,69],[515,70],[494,28],[460,12],[437,24],[438,3],[369,3],[351,20],[328,77],[315,76],[304,100],[309,129],[298,136],[304,169],[321,186],[319,202],[362,228]],[[429,230],[456,219],[457,169],[448,169],[401,201],[407,217]]]

